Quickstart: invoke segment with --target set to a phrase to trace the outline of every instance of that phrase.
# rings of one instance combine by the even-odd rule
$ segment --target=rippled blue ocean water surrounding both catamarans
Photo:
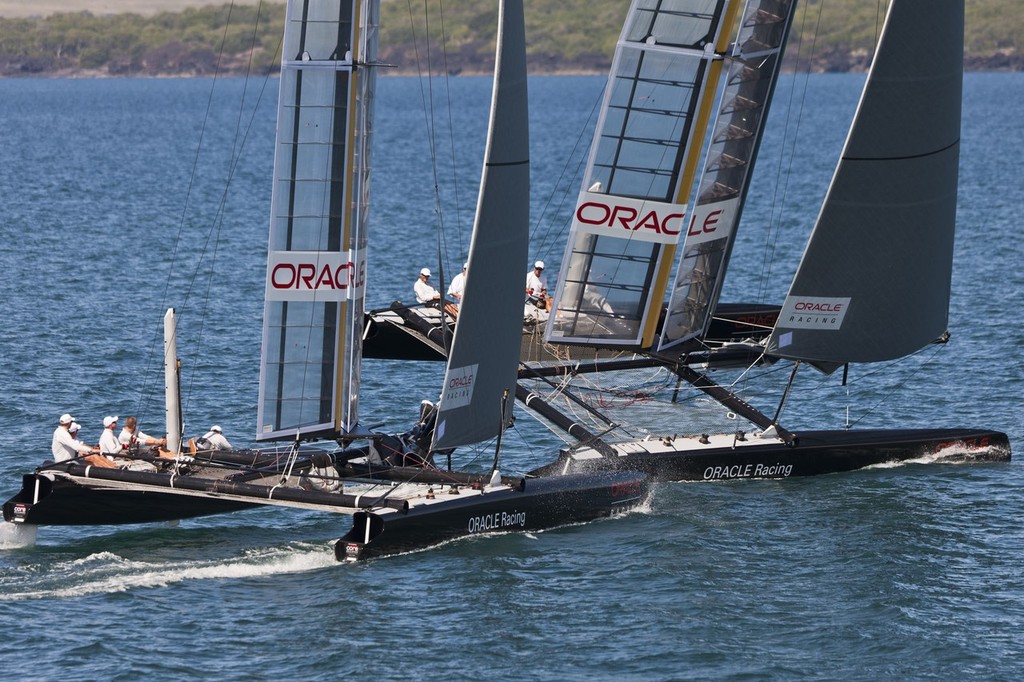
[[[1022,442],[1022,79],[966,79],[950,343],[855,369],[849,387],[805,373],[791,428],[977,425]],[[781,300],[861,83],[783,80],[727,300]],[[531,258],[552,278],[602,84],[530,81]],[[380,81],[371,306],[409,298],[437,262],[439,223],[447,267],[468,246],[489,84],[449,87]],[[0,80],[4,498],[48,456],[63,412],[87,440],[108,414],[160,432],[168,306],[181,314],[186,431],[216,422],[252,441],[276,82],[263,88]],[[361,414],[404,428],[440,372],[367,361]],[[750,379],[744,396],[773,409],[784,375]],[[558,443],[521,415],[505,466],[546,462]],[[0,664],[12,679],[1018,679],[1021,471],[921,463],[665,483],[623,518],[358,565],[333,559],[346,519],[294,510],[42,528],[35,542],[5,527]]]

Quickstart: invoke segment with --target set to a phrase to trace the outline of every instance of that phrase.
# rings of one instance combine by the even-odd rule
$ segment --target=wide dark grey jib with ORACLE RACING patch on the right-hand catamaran
[[[830,372],[946,331],[963,54],[963,0],[893,0],[769,353]]]

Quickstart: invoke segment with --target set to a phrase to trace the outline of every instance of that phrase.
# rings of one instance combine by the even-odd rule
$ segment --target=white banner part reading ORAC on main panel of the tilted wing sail
[[[580,195],[572,226],[594,235],[676,244],[685,231],[685,212],[680,204],[585,191]]]

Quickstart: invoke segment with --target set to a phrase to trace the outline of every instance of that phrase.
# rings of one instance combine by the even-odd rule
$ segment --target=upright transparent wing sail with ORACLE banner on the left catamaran
[[[377,0],[291,0],[278,104],[260,440],[357,419]]]

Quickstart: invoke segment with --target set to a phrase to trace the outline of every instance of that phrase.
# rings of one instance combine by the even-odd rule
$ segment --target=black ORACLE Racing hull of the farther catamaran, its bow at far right
[[[531,473],[630,470],[654,480],[715,481],[815,476],[908,460],[1009,462],[1011,456],[1007,434],[984,429],[806,431],[793,445],[746,437],[735,443],[705,438],[707,444],[699,437],[652,438],[630,443],[628,452],[620,445],[615,454],[588,450],[583,457],[563,452]]]

